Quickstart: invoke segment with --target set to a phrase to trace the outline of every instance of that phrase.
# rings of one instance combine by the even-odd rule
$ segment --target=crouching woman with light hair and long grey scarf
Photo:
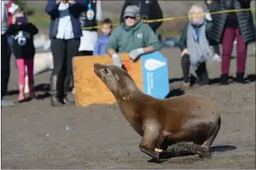
[[[196,82],[199,85],[209,85],[206,62],[212,58],[207,37],[211,25],[204,19],[204,9],[201,6],[192,6],[188,12],[188,19],[179,42],[184,86],[190,87],[190,66],[196,70]]]

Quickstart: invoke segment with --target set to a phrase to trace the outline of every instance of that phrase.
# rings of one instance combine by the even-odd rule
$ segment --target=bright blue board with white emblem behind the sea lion
[[[168,64],[159,51],[142,55],[143,93],[164,99],[169,93]]]

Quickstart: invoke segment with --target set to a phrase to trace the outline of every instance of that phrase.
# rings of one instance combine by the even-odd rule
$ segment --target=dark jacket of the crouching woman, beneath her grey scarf
[[[184,26],[183,31],[181,33],[180,36],[180,41],[179,41],[179,47],[180,47],[180,51],[183,51],[184,48],[187,48],[187,32],[188,32],[188,24],[189,22]],[[211,22],[206,21],[206,37],[208,38],[208,34],[211,30]],[[209,42],[209,44],[211,45],[211,43]]]

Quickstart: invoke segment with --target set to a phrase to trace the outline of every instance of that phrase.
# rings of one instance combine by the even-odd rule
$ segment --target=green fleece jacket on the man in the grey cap
[[[111,33],[105,50],[114,49],[118,53],[126,53],[149,45],[155,51],[159,51],[161,48],[152,28],[148,24],[143,23],[143,21],[139,21],[133,28],[128,28],[125,23],[115,28]]]

